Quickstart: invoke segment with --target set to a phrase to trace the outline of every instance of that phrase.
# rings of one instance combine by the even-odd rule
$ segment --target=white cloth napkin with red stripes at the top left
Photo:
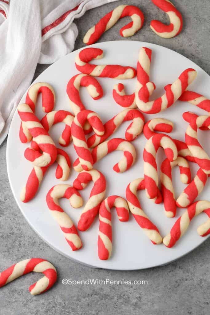
[[[0,145],[37,63],[49,64],[74,49],[75,18],[117,0],[0,0]]]

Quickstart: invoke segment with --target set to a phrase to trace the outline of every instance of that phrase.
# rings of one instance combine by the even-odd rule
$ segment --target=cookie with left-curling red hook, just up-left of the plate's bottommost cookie
[[[94,186],[90,192],[89,200],[80,215],[77,225],[78,230],[80,231],[86,231],[91,226],[95,216],[99,212],[100,204],[105,197],[106,179],[97,169],[79,173],[73,182],[73,187],[77,190],[82,190],[91,180],[94,182]]]

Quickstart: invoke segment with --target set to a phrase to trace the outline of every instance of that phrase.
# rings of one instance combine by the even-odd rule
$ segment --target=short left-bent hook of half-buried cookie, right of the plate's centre
[[[170,133],[173,130],[173,123],[165,118],[153,118],[144,125],[143,133],[146,139],[156,135],[155,131]]]

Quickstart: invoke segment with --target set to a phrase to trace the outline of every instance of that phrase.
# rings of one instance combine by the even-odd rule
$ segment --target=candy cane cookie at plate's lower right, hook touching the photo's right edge
[[[207,215],[210,215],[210,202],[206,200],[196,201],[191,204],[190,207],[179,217],[179,219],[174,223],[171,231],[163,238],[163,244],[169,248],[173,247],[175,243],[181,238],[188,226],[190,225],[190,221],[201,212],[207,212]],[[202,236],[210,233],[210,220],[206,222],[206,224],[202,224],[198,228],[198,233]],[[207,230],[208,228],[208,230]]]

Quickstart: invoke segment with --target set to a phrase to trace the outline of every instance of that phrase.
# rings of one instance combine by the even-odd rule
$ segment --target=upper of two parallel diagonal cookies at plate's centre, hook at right
[[[88,138],[87,144],[89,148],[94,148],[101,142],[109,138],[118,129],[118,127],[125,121],[132,120],[125,132],[125,138],[128,141],[133,141],[141,134],[144,126],[144,116],[137,109],[124,109],[122,112],[116,114],[113,118],[104,124],[104,135],[92,135]]]

